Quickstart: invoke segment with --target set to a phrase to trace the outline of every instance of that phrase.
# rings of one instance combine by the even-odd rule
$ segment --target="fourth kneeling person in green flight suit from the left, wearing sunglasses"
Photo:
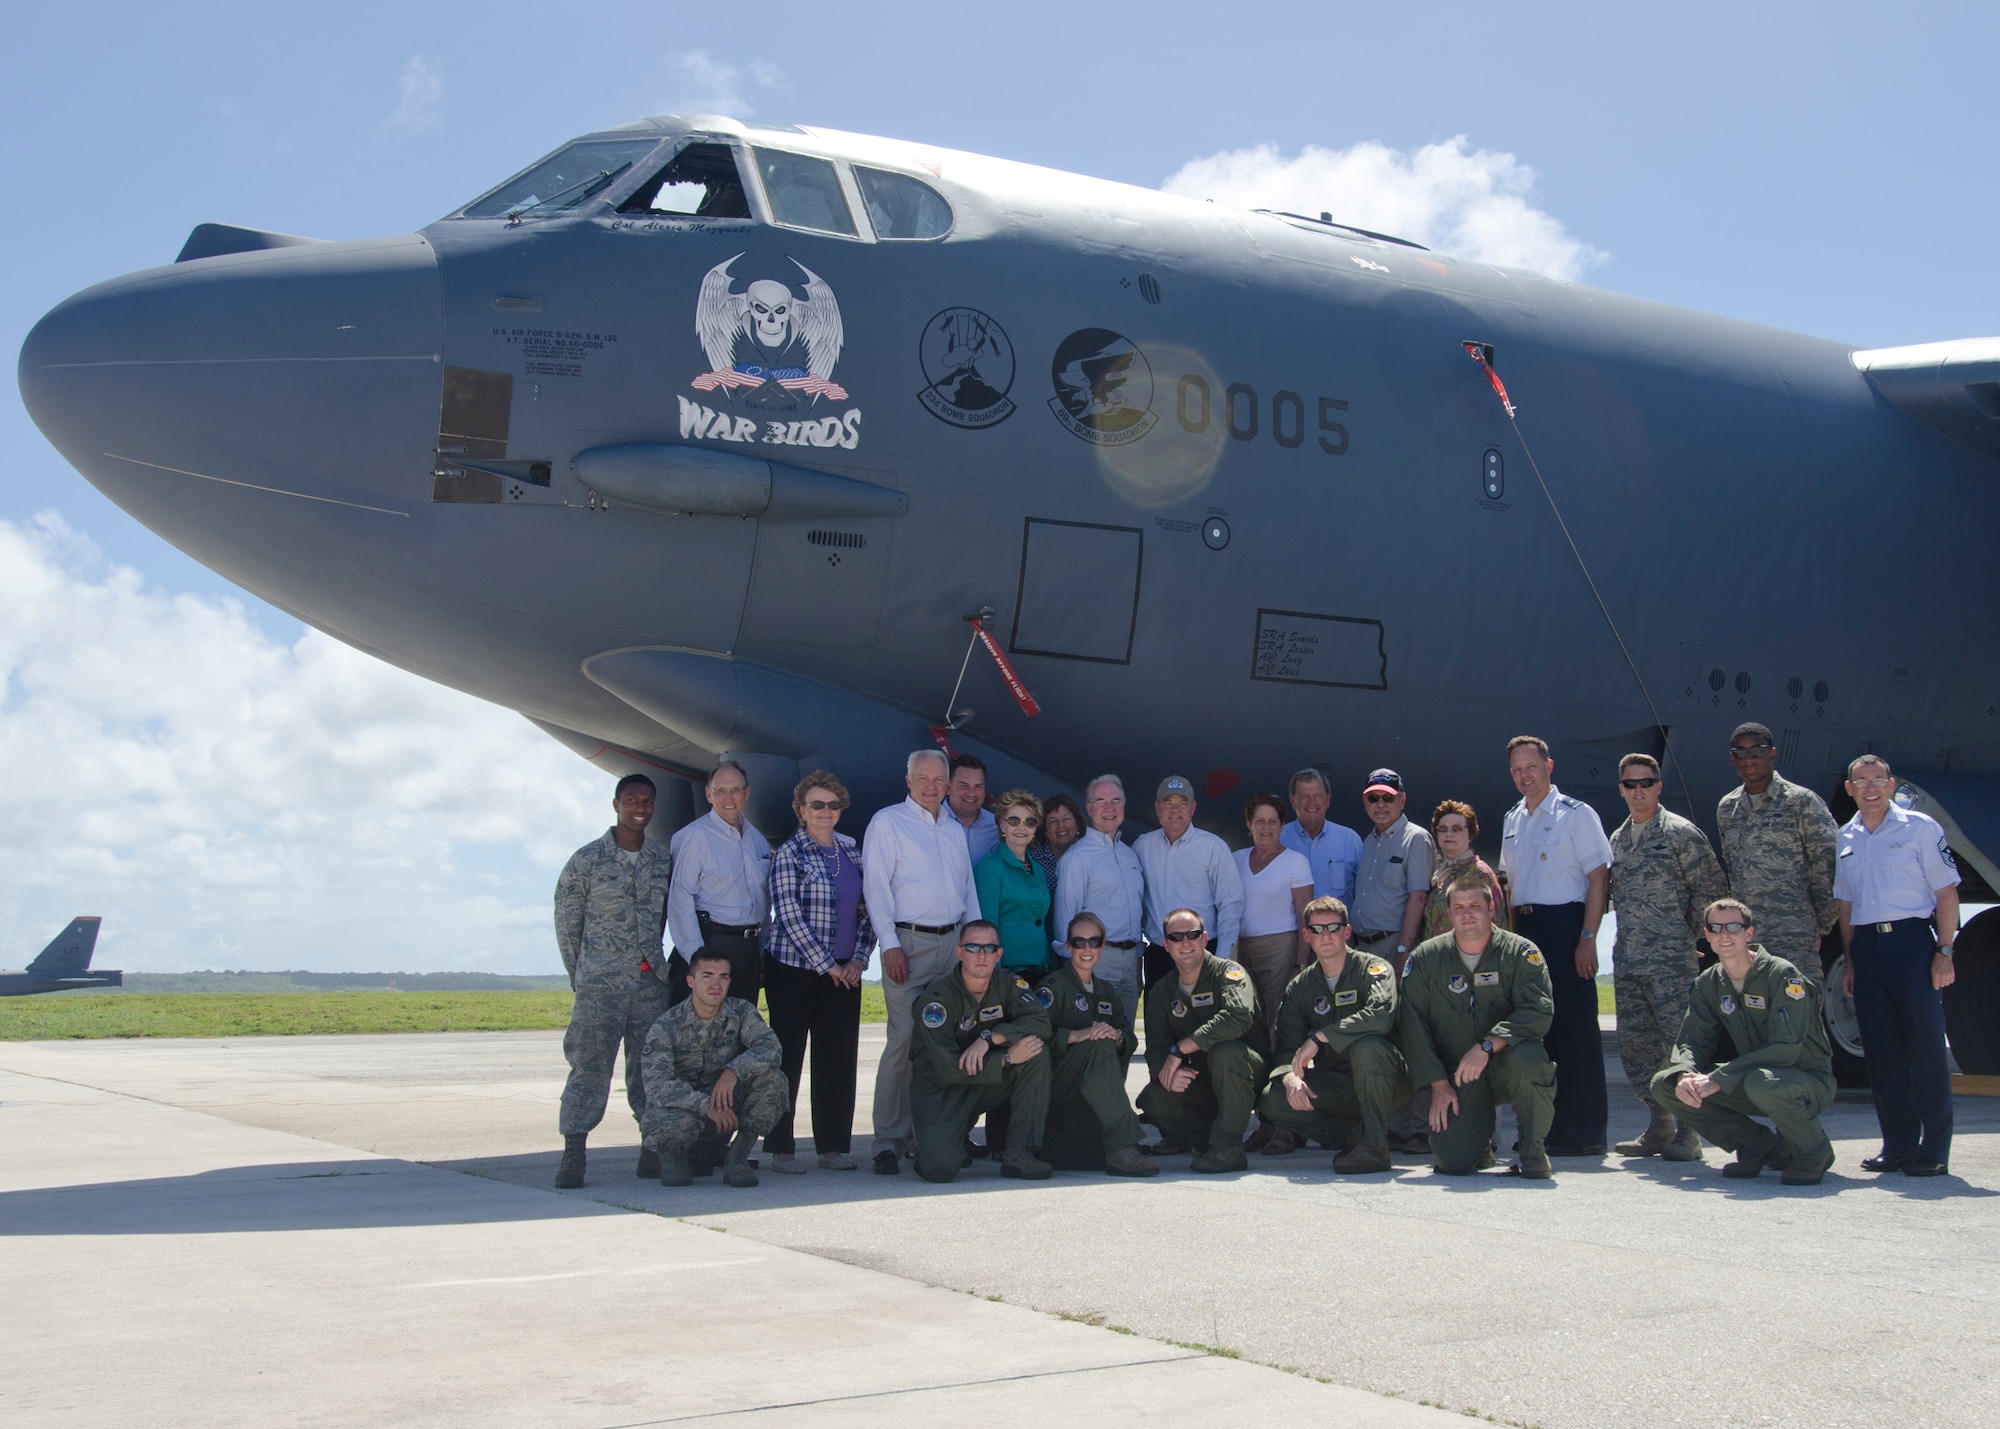
[[[1258,1115],[1338,1147],[1334,1171],[1388,1171],[1388,1119],[1410,1101],[1410,1075],[1394,1043],[1396,969],[1348,947],[1348,905],[1340,899],[1308,903],[1304,929],[1316,961],[1284,989],[1272,1041],[1280,1069]]]

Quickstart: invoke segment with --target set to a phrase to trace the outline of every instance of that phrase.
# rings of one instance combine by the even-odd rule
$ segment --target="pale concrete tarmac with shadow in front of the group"
[[[1938,1181],[1858,1171],[1844,1097],[1812,1189],[1710,1149],[668,1191],[614,1097],[552,1193],[562,1075],[556,1033],[0,1045],[0,1417],[2000,1425],[1992,1099]]]

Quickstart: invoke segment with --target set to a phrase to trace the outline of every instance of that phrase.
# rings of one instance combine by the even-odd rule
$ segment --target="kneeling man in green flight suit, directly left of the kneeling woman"
[[[974,919],[958,935],[958,967],[916,997],[910,1039],[910,1119],[916,1169],[952,1181],[972,1123],[1008,1107],[1000,1175],[1046,1181],[1034,1155],[1048,1119],[1048,1011],[1024,979],[998,973],[1000,929]]]

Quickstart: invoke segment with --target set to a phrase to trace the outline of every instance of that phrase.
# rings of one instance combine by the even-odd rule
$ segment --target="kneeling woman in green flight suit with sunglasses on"
[[[1096,977],[1104,921],[1078,913],[1066,943],[1068,961],[1034,991],[1048,1009],[1054,1065],[1042,1155],[1064,1171],[1156,1177],[1160,1165],[1138,1153],[1138,1117],[1124,1091],[1132,1045],[1124,999],[1108,979]]]

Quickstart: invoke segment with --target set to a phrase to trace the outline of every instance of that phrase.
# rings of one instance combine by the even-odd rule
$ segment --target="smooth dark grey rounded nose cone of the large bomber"
[[[440,340],[424,238],[300,244],[86,288],[28,334],[20,392],[106,496],[298,608],[310,566],[416,524]]]

